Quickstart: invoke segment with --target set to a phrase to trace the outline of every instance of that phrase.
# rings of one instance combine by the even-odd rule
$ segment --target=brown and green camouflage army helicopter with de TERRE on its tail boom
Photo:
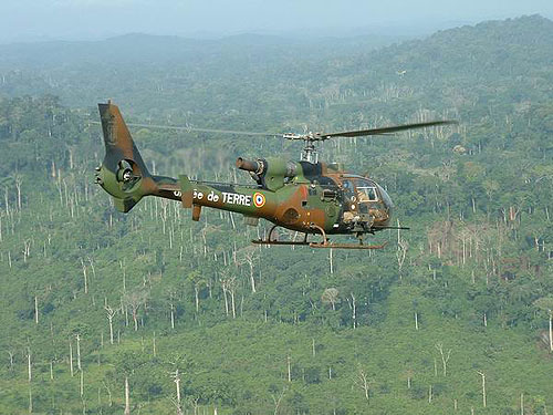
[[[239,157],[236,166],[249,172],[255,184],[237,185],[191,180],[186,175],[178,179],[152,175],[118,107],[108,101],[98,104],[98,110],[106,154],[96,167],[96,183],[113,197],[117,210],[128,212],[143,197],[157,196],[191,208],[196,221],[202,207],[242,214],[246,225],[250,226],[257,226],[259,218],[271,221],[273,227],[267,239],[252,240],[253,243],[311,248],[379,249],[385,243],[365,245],[364,237],[384,229],[408,229],[390,226],[394,205],[380,185],[369,177],[347,173],[342,164],[319,162],[316,143],[455,123],[434,121],[333,134],[284,134],[285,139],[304,142],[300,162]],[[278,240],[273,237],[278,227],[303,234],[303,239]],[[320,235],[322,240],[309,241],[310,235]],[[358,242],[331,242],[328,235],[355,236]]]

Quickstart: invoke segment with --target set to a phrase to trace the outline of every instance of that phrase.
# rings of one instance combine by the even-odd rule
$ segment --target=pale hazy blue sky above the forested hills
[[[0,0],[0,41],[128,32],[424,32],[533,13],[553,18],[553,0]]]

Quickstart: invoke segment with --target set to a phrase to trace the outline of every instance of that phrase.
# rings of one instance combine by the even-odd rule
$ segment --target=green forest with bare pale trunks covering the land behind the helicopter
[[[121,414],[125,381],[133,414],[178,413],[177,385],[188,414],[553,412],[553,22],[378,50],[262,38],[77,45],[51,45],[51,60],[1,46],[1,414],[31,402],[38,414]],[[268,249],[249,243],[267,224],[244,229],[227,212],[197,224],[152,198],[116,212],[92,183],[103,146],[90,121],[106,96],[127,121],[155,124],[460,125],[324,147],[324,159],[386,185],[411,227],[375,236],[385,250]],[[237,156],[300,149],[133,134],[153,172],[204,179],[247,181]]]

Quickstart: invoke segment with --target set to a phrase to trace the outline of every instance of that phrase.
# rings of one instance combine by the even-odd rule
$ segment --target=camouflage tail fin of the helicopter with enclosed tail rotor
[[[149,174],[133,142],[117,105],[98,104],[104,133],[105,157],[96,168],[96,183],[114,198],[117,210],[129,211],[144,196],[158,194],[156,180]]]

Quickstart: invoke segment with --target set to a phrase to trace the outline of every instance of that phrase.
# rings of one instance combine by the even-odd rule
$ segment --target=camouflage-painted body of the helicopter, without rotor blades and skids
[[[359,212],[355,196],[349,198],[345,194],[344,180],[355,184],[367,178],[346,174],[337,164],[239,158],[237,166],[251,172],[257,181],[251,187],[192,181],[184,175],[178,180],[153,176],[118,107],[108,102],[98,104],[98,110],[106,155],[96,169],[96,181],[123,212],[129,211],[144,196],[157,196],[180,200],[182,207],[192,208],[195,220],[199,220],[201,207],[210,207],[246,218],[264,218],[307,234],[319,232],[314,226],[327,234],[373,234],[389,224],[392,201],[384,189],[373,183],[378,200],[371,203],[367,212]],[[354,224],[344,220],[345,211],[357,218]]]

